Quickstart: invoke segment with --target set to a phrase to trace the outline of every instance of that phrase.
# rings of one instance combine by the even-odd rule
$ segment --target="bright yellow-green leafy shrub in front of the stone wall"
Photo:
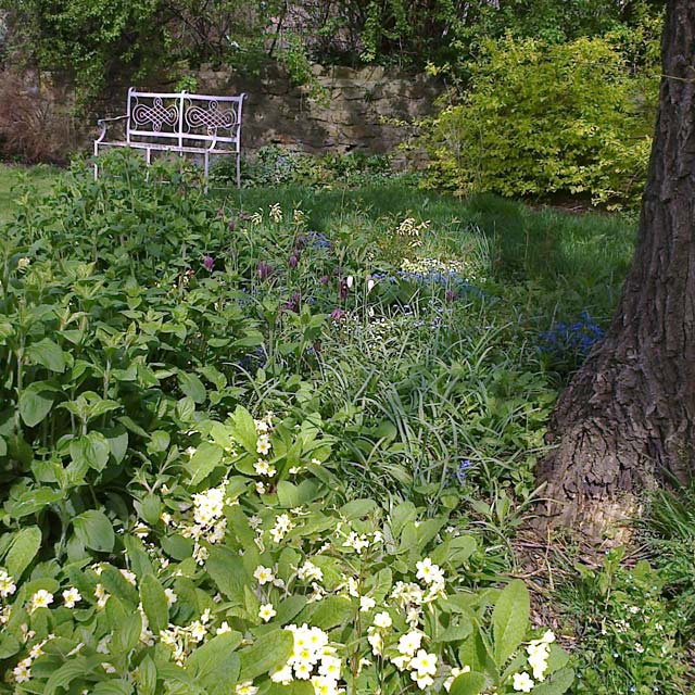
[[[425,137],[430,184],[503,195],[590,193],[635,202],[650,150],[656,71],[609,38],[488,41],[463,101]]]

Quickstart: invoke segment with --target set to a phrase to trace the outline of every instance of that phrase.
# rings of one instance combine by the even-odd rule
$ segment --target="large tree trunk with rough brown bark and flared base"
[[[640,239],[604,342],[561,395],[544,525],[597,540],[695,472],[695,0],[669,0]],[[601,263],[601,258],[596,260]]]

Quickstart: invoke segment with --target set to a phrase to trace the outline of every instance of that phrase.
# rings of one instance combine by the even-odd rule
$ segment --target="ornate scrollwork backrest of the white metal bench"
[[[201,149],[214,143],[239,152],[244,97],[142,92],[131,87],[126,140]]]

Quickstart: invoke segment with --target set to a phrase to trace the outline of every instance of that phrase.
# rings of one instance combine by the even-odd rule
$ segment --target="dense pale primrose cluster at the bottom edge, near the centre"
[[[338,684],[342,662],[336,656],[336,647],[328,644],[328,635],[306,623],[301,628],[291,624],[285,629],[294,637],[292,654],[281,669],[270,673],[270,680],[283,685],[289,685],[294,679],[309,681],[315,695],[344,693]]]

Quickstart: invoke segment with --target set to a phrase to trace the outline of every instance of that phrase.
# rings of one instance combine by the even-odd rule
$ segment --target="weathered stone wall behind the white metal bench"
[[[381,67],[315,66],[319,98],[311,98],[305,87],[291,85],[278,70],[268,70],[256,79],[208,68],[190,75],[198,83],[199,93],[247,92],[242,125],[242,150],[247,153],[268,144],[312,154],[392,152],[412,134],[409,123],[432,113],[434,100],[442,92],[442,87],[426,75],[387,72]],[[61,136],[63,156],[76,150],[91,151],[98,132],[97,118],[125,111],[125,84],[112,85],[103,101],[93,104],[91,114],[74,118],[74,89],[70,80],[46,73],[24,73],[21,79],[22,98],[27,103],[36,102],[37,112],[51,115],[50,122],[41,126],[42,132],[70,131],[70,137]],[[174,89],[170,84],[155,83],[137,87]],[[61,159],[60,153],[52,159]]]

